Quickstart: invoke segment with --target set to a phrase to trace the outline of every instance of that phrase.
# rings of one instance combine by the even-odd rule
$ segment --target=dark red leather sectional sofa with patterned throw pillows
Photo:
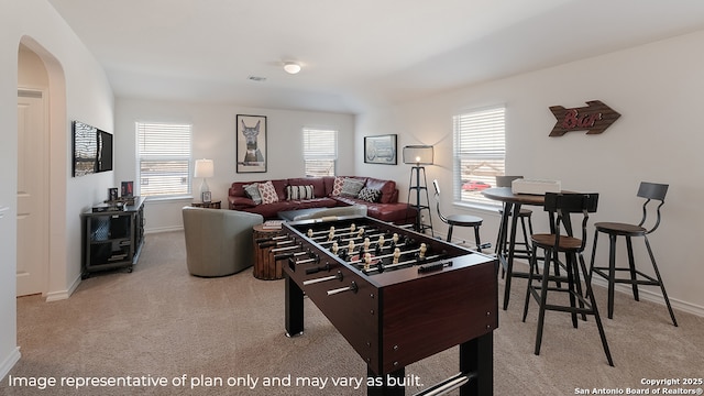
[[[336,178],[344,180],[352,178],[364,184],[364,188],[377,190],[378,197],[374,201],[362,199],[359,196],[340,195],[333,193]],[[382,180],[362,176],[326,176],[300,177],[271,180],[276,190],[278,201],[271,204],[255,204],[244,187],[248,185],[263,184],[268,180],[234,182],[228,193],[228,207],[232,210],[258,213],[265,220],[277,219],[280,211],[299,210],[309,208],[334,208],[340,206],[363,205],[366,206],[367,216],[396,224],[411,224],[416,219],[416,210],[406,202],[398,202],[398,189],[396,182]],[[340,180],[338,180],[340,182]],[[312,186],[314,198],[289,199],[286,186]]]

